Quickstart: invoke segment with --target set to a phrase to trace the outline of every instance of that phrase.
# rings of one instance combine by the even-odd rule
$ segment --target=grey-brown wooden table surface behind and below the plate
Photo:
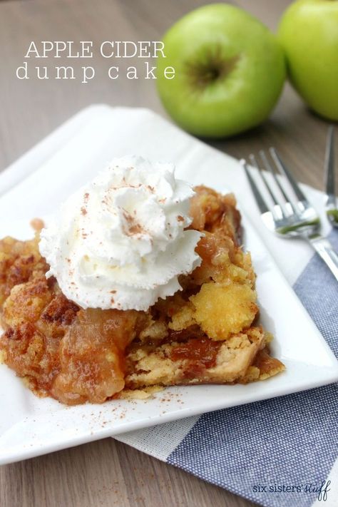
[[[106,78],[109,61],[96,56],[96,78],[19,81],[30,41],[160,40],[165,29],[203,0],[11,0],[0,1],[0,170],[31,148],[69,116],[91,103],[145,106],[165,115],[153,81]],[[275,29],[288,0],[237,0]],[[48,72],[53,66],[43,63]],[[39,62],[39,64],[41,64]],[[73,62],[72,62],[73,64]],[[80,69],[81,61],[75,64]],[[130,62],[133,65],[133,62]],[[51,74],[52,75],[52,74]],[[275,145],[295,175],[322,188],[322,163],[327,123],[307,111],[285,87],[264,126],[228,140],[212,142],[238,158]],[[0,468],[1,507],[68,506],[228,506],[253,504],[200,481],[173,466],[141,454],[113,439]]]

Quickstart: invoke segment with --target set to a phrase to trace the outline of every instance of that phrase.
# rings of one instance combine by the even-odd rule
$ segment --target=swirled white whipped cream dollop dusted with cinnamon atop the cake
[[[148,309],[200,265],[201,233],[185,230],[192,195],[172,164],[114,159],[41,231],[46,276],[83,308]]]

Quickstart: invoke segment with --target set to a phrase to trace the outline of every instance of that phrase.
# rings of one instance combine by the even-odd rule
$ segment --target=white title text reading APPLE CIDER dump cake
[[[43,65],[46,58],[73,58],[84,63],[94,57],[95,53],[101,58],[113,59],[114,65],[107,71],[109,79],[115,81],[121,76],[127,79],[157,79],[157,66],[150,63],[150,58],[165,58],[165,46],[162,41],[103,41],[98,47],[93,41],[31,41],[24,56],[23,64],[16,68],[18,79],[80,79],[81,83],[88,83],[96,76],[96,69],[91,65],[77,68],[73,65]],[[118,64],[121,59],[137,58],[138,66],[129,65],[122,68]],[[147,59],[148,58],[148,59]],[[42,59],[42,63],[41,63]],[[116,60],[116,61],[115,61]],[[39,65],[36,65],[39,61]],[[34,64],[35,63],[35,64]],[[175,78],[175,68],[167,66],[161,71],[165,79]]]

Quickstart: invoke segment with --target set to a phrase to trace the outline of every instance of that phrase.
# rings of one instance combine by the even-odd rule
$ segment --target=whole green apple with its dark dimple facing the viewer
[[[285,57],[250,14],[229,4],[203,6],[174,24],[163,42],[158,92],[185,130],[222,138],[269,116],[285,81]],[[172,79],[165,78],[168,66],[175,69]]]

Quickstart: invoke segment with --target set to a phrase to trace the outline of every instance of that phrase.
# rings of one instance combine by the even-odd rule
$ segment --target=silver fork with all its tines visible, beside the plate
[[[300,237],[309,242],[338,281],[338,255],[331,243],[319,234],[320,220],[316,210],[302,193],[277,150],[270,148],[269,151],[270,157],[263,150],[260,151],[260,163],[257,163],[255,155],[250,155],[250,163],[257,168],[262,188],[265,189],[268,199],[264,197],[259,185],[255,183],[247,162],[241,160],[252,193],[255,195],[258,208],[260,208],[262,221],[277,235]],[[262,168],[270,173],[272,178],[267,178],[267,174],[262,171]],[[276,170],[285,177],[288,185],[280,183]],[[290,188],[287,189],[287,186]],[[267,204],[268,200],[271,201],[271,205]]]

